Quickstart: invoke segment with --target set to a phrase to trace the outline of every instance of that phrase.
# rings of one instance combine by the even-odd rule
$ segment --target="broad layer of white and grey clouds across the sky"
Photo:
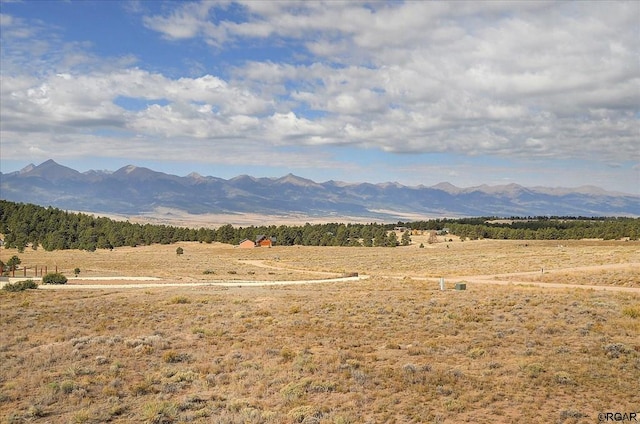
[[[55,36],[3,14],[3,140],[66,133],[91,144],[102,138],[76,135],[113,130],[155,137],[167,157],[237,141],[637,161],[639,15],[636,2],[170,3],[140,18],[171,46],[296,50],[224,77],[170,77],[135,57],[100,63],[90,46],[54,49]],[[44,61],[51,72],[20,71]],[[149,104],[127,110],[122,96]]]

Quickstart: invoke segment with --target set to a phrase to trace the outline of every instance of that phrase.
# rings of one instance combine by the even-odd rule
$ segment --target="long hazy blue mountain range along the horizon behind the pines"
[[[191,214],[298,214],[397,220],[403,216],[640,216],[640,196],[598,187],[523,187],[517,184],[460,188],[398,183],[317,183],[241,175],[229,180],[185,177],[133,165],[115,172],[79,172],[48,160],[20,171],[0,172],[0,197],[14,202],[91,213],[140,215],[159,208]]]

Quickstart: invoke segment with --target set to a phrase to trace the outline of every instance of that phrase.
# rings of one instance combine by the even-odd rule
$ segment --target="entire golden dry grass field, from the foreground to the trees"
[[[2,422],[597,423],[600,412],[640,420],[640,243],[420,242],[2,249],[4,262],[16,254],[68,276],[78,267],[74,285],[97,276],[370,276],[0,291]],[[462,279],[467,290],[453,290]]]

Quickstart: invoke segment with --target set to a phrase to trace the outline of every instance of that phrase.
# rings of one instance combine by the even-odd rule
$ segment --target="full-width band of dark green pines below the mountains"
[[[172,244],[180,241],[238,244],[258,235],[275,237],[282,246],[395,247],[410,243],[413,230],[455,234],[464,239],[566,240],[582,238],[620,239],[640,237],[639,218],[495,217],[434,219],[397,224],[305,224],[212,228],[185,228],[138,224],[70,213],[53,207],[0,200],[0,234],[7,248],[27,246],[45,250],[113,249],[121,246]],[[393,230],[402,227],[400,237]]]

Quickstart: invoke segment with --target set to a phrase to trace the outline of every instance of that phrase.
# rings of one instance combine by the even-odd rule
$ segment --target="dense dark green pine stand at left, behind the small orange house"
[[[8,248],[27,246],[47,251],[61,249],[113,249],[121,246],[172,244],[180,241],[238,244],[258,235],[275,237],[278,245],[293,246],[396,246],[394,233],[383,224],[305,224],[212,228],[184,228],[169,225],[138,224],[71,213],[54,207],[0,200],[0,234]]]

